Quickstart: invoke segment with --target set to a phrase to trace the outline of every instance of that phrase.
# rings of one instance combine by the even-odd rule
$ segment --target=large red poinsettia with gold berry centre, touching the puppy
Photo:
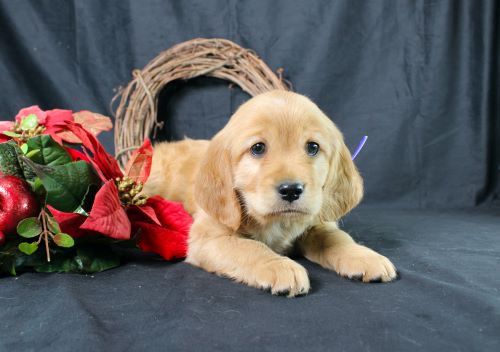
[[[117,240],[128,240],[137,233],[137,246],[142,250],[158,253],[167,260],[185,257],[192,219],[182,205],[158,196],[127,203],[117,186],[137,187],[147,180],[153,154],[151,142],[146,140],[134,152],[123,173],[116,159],[80,124],[65,122],[62,127],[82,141],[84,153],[104,182],[88,217],[51,209],[62,231],[73,237],[100,234]],[[136,195],[127,196],[133,200]]]

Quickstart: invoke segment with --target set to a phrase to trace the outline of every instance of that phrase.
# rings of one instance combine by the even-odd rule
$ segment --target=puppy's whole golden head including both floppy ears
[[[284,91],[259,95],[238,109],[212,140],[198,181],[202,208],[233,228],[242,213],[261,224],[333,219],[362,192],[335,125],[310,100]]]

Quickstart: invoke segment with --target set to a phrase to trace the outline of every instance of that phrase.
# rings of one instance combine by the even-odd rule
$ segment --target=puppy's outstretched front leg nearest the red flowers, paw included
[[[293,297],[310,288],[306,269],[290,258],[261,242],[241,238],[230,230],[207,228],[198,221],[191,229],[186,261],[249,286],[270,289],[273,294]]]

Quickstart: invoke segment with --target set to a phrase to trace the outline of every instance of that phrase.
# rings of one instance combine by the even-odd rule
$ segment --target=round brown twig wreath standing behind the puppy
[[[169,82],[211,76],[237,84],[254,96],[272,89],[288,90],[291,86],[282,72],[280,68],[276,75],[252,50],[225,39],[193,39],[161,52],[142,70],[134,70],[133,80],[111,102],[120,98],[114,138],[120,165],[163,127],[157,116],[158,97]]]

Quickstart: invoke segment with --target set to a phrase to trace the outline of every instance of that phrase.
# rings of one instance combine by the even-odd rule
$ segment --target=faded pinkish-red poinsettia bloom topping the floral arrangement
[[[21,109],[15,118],[17,125],[21,125],[26,117],[32,115],[36,116],[37,126],[44,127],[41,133],[50,134],[60,144],[63,141],[67,143],[81,143],[75,135],[63,128],[66,121],[82,123],[87,130],[95,135],[98,135],[102,131],[109,131],[113,127],[111,119],[104,115],[90,111],[73,113],[71,110],[62,109],[43,111],[38,105]],[[16,132],[16,123],[12,121],[0,121],[0,143],[12,138],[12,135],[6,135],[3,132]]]

